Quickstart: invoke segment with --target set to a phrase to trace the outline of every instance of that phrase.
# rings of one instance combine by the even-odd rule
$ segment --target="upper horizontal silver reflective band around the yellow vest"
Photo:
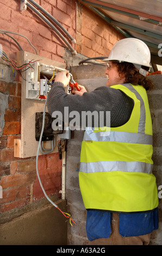
[[[152,135],[120,131],[94,132],[94,130],[87,129],[83,141],[114,141],[152,145]]]

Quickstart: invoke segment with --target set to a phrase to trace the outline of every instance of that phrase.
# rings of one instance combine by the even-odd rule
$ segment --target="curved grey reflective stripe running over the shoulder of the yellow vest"
[[[145,124],[146,124],[146,110],[144,100],[141,95],[135,90],[132,84],[123,84],[124,87],[128,88],[132,93],[135,94],[136,98],[140,101],[140,120],[139,120],[139,129],[138,132],[145,133]]]

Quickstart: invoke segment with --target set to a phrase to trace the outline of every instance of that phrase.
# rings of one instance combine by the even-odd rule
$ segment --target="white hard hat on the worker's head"
[[[113,46],[108,60],[119,60],[151,68],[151,54],[145,42],[137,38],[124,38]]]

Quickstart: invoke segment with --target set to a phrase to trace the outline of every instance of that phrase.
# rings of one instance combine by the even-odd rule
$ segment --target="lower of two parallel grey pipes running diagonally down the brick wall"
[[[27,5],[30,9],[32,9],[39,17],[41,17],[41,19],[42,19],[43,21],[45,21],[45,22],[53,29],[53,31],[54,31],[55,33],[57,33],[57,34],[60,36],[60,38],[65,42],[65,44],[68,46],[68,48],[70,48],[70,50],[71,50],[71,52],[72,52],[73,55],[76,55],[76,54],[77,54],[77,51],[73,49],[73,47],[69,44],[69,42],[68,42],[68,41],[64,38],[64,36],[58,31],[58,29],[55,28],[54,25],[53,25],[45,16],[43,16],[43,15],[40,13],[39,10],[37,10],[32,4],[30,4],[30,3],[28,3],[28,2],[26,3],[26,5]]]

